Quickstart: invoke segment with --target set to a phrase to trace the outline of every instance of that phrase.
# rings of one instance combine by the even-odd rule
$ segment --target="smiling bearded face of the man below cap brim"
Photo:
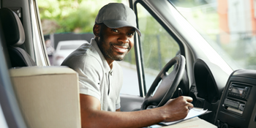
[[[105,59],[110,62],[121,61],[134,45],[135,29],[132,27],[122,27],[110,29],[104,24],[99,32],[98,45]]]

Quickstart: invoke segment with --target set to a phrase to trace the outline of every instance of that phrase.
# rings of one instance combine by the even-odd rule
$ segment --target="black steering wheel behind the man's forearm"
[[[168,70],[174,64],[176,65],[173,67],[173,71],[168,74]],[[165,65],[148,90],[140,110],[145,110],[149,105],[156,105],[157,107],[165,105],[173,96],[174,91],[176,91],[178,84],[181,82],[185,71],[185,64],[184,56],[177,55]],[[162,82],[159,84],[161,80]],[[157,91],[154,93],[154,96],[152,96],[158,85]]]

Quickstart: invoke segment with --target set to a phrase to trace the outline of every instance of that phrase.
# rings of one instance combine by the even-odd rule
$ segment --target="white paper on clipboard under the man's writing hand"
[[[203,113],[206,113],[207,110],[203,110],[203,108],[192,108],[191,110],[189,110],[189,113],[187,114],[187,116],[181,120],[178,121],[170,121],[170,122],[161,122],[160,124],[164,124],[164,125],[171,125],[171,124],[176,124],[180,121],[185,121],[189,118],[193,118],[193,117],[197,117],[202,115]]]

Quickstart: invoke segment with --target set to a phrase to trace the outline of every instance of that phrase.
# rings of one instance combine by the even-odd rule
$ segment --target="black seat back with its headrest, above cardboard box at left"
[[[31,59],[31,56],[18,47],[25,41],[25,32],[18,15],[9,8],[1,8],[0,20],[12,67],[36,66],[37,64]]]

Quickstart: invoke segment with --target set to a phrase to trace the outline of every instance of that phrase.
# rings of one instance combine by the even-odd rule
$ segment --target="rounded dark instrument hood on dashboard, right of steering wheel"
[[[211,61],[197,59],[194,64],[197,97],[209,103],[217,102],[225,88],[229,75]]]

